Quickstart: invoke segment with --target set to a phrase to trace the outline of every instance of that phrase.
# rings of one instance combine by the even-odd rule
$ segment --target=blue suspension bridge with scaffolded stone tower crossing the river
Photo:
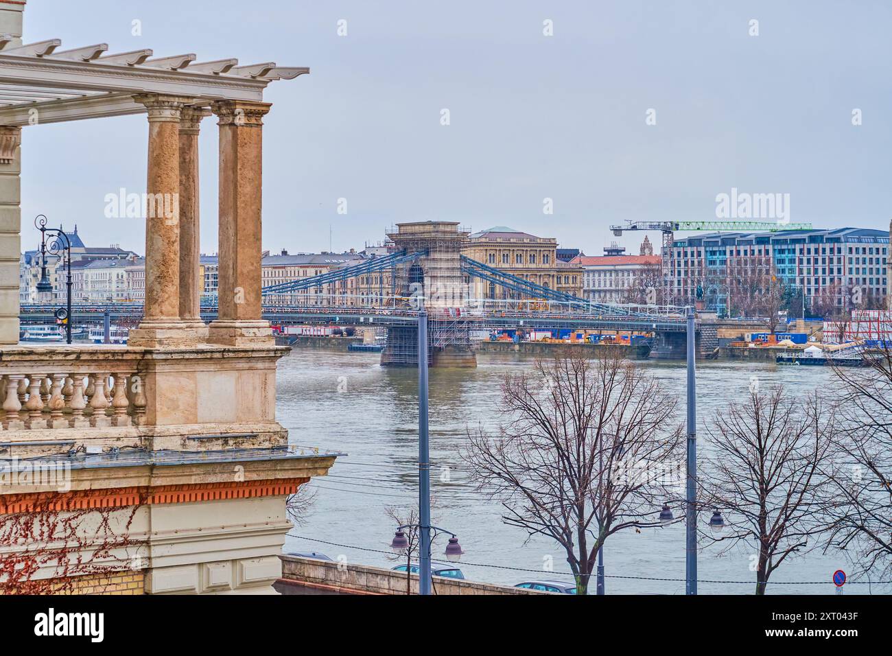
[[[467,234],[458,230],[458,223],[429,221],[399,228],[388,235],[395,245],[392,253],[263,287],[263,318],[274,326],[386,328],[382,363],[393,366],[417,364],[417,312],[422,306],[430,318],[428,342],[434,365],[472,366],[471,331],[493,328],[638,332],[653,336],[657,349],[684,353],[682,307],[591,303],[538,285],[461,254]],[[499,290],[504,298],[474,298],[474,279],[483,280],[491,295]],[[366,282],[359,285],[359,281]],[[75,303],[72,317],[75,323],[101,325],[106,311],[112,323],[134,326],[142,316],[142,304]],[[52,322],[53,312],[47,304],[22,304],[21,323]],[[216,319],[214,295],[202,297],[201,313],[202,320]],[[698,324],[698,332],[709,331]],[[714,339],[701,337],[706,337],[701,351],[714,348]]]

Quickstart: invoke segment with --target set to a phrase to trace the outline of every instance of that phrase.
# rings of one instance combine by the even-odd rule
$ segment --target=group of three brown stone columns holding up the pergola
[[[134,98],[148,112],[148,203],[145,309],[128,344],[270,345],[260,309],[262,117],[270,104],[219,101],[208,111],[186,97]],[[198,135],[211,113],[219,119],[219,301],[209,328],[199,314]]]

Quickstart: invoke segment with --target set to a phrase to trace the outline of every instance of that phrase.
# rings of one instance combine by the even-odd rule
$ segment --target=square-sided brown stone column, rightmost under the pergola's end
[[[208,341],[274,343],[260,309],[260,190],[263,116],[268,103],[222,101],[219,118],[219,314]]]

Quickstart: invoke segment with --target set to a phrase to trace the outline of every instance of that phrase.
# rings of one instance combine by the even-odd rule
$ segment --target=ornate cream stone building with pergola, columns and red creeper
[[[277,422],[287,349],[260,314],[263,91],[309,71],[23,43],[24,9],[0,0],[0,593],[271,593],[286,499],[337,455]],[[126,346],[17,345],[22,133],[121,115],[146,120],[143,319]],[[219,316],[206,326],[211,116]]]

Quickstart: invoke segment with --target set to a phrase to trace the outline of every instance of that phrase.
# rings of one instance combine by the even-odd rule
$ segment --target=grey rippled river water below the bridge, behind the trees
[[[291,441],[347,454],[337,459],[329,476],[313,479],[315,500],[303,525],[293,530],[295,536],[287,538],[286,552],[323,552],[381,567],[398,564],[388,558],[395,527],[385,508],[417,503],[417,371],[382,369],[378,359],[377,353],[301,348],[279,362],[277,419],[290,430]],[[492,428],[498,421],[500,379],[508,372],[529,370],[532,363],[532,358],[521,355],[478,354],[475,370],[430,373],[434,524],[458,534],[466,552],[459,566],[469,579],[505,585],[530,578],[572,580],[564,575],[569,567],[556,543],[541,536],[527,541],[522,529],[502,523],[500,504],[475,492],[460,456],[469,428]],[[681,421],[684,363],[638,364],[680,395]],[[704,422],[744,397],[754,377],[761,386],[780,384],[792,394],[805,395],[814,389],[832,394],[834,375],[830,369],[771,363],[698,363],[701,453],[706,446]],[[658,510],[654,509],[655,515]],[[718,555],[716,547],[703,546],[701,581],[746,583],[704,582],[699,585],[701,593],[753,592],[753,554],[741,549]],[[434,544],[434,560],[444,548],[441,537]],[[604,560],[607,594],[684,594],[682,523],[615,534],[607,539]],[[813,551],[792,557],[773,574],[768,593],[833,594],[830,577],[836,569],[852,571],[844,554]],[[776,583],[783,581],[818,583]],[[591,586],[593,591],[593,580]],[[848,594],[870,592],[888,593],[889,586],[847,585]]]

